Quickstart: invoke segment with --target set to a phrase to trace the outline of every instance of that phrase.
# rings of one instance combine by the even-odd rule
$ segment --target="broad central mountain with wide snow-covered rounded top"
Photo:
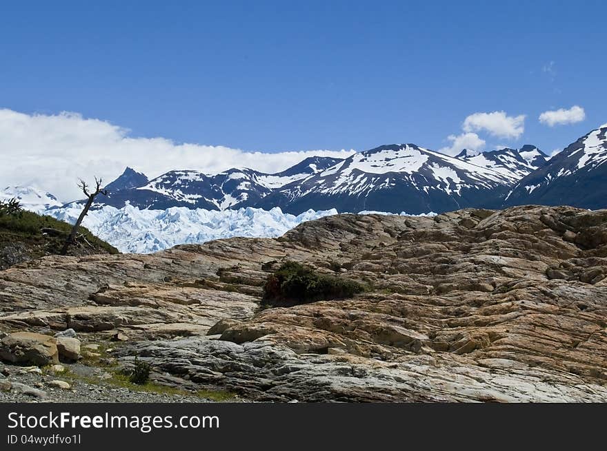
[[[303,180],[275,189],[254,204],[288,213],[338,211],[450,211],[494,207],[513,179],[415,144],[384,145],[359,152]]]

